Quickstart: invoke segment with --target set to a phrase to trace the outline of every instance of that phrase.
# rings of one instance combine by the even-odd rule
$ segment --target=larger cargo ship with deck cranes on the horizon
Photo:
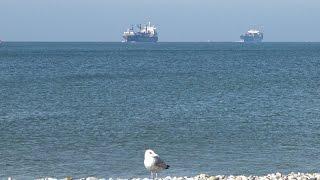
[[[157,42],[157,28],[149,22],[144,27],[141,24],[137,25],[138,31],[135,31],[133,26],[123,33],[124,42]]]

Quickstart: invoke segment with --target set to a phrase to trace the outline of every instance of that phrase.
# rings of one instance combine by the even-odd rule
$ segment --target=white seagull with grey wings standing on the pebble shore
[[[157,179],[158,172],[170,167],[151,149],[146,150],[144,153],[144,166],[151,172],[152,179],[154,179],[153,173],[156,174]]]

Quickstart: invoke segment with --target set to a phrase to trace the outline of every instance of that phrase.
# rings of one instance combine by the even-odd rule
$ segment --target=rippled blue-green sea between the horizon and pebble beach
[[[0,44],[0,179],[320,171],[320,43]]]

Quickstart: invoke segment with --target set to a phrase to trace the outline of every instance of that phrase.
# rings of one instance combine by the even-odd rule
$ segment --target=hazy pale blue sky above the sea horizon
[[[5,41],[121,41],[148,21],[159,41],[320,41],[320,0],[0,0]]]

